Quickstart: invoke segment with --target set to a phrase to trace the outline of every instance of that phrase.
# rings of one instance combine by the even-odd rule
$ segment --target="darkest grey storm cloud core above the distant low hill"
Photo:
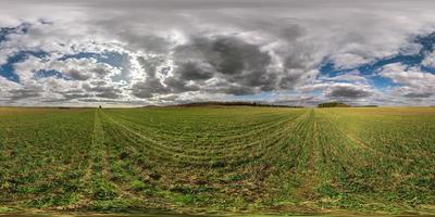
[[[228,84],[222,91],[229,94],[232,90],[240,92],[240,88],[234,88],[236,86],[266,91],[274,89],[277,82],[276,74],[268,72],[271,55],[259,46],[232,36],[194,36],[189,43],[175,49],[175,59],[181,64],[175,74],[181,79],[215,77]],[[191,60],[202,62],[202,66]]]

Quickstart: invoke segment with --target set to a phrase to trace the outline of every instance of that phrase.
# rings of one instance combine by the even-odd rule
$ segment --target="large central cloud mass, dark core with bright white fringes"
[[[310,75],[303,63],[289,63],[290,56],[277,66],[272,59],[268,48],[236,36],[191,36],[171,56],[140,56],[146,76],[133,85],[133,94],[144,99],[192,91],[254,94],[291,89]]]

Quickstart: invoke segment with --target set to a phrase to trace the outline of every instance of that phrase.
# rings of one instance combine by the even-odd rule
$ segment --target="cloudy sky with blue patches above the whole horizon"
[[[433,0],[1,0],[0,105],[435,105]]]

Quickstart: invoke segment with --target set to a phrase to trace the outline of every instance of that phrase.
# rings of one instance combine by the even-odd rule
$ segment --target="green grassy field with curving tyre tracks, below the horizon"
[[[0,213],[435,213],[435,108],[0,108]]]

